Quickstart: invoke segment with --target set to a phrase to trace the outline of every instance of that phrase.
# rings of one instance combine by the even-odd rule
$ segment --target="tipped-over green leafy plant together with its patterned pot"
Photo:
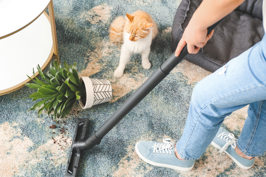
[[[67,65],[67,62],[64,61],[64,68],[62,68],[61,64],[58,65],[55,60],[53,66],[50,64],[50,70],[46,74],[42,72],[39,65],[37,69],[44,81],[40,81],[37,77],[35,77],[36,80],[33,80],[28,76],[35,84],[25,83],[25,85],[31,89],[37,89],[37,91],[31,95],[28,94],[25,98],[31,98],[33,101],[43,99],[34,104],[29,110],[35,110],[43,106],[38,110],[38,116],[41,115],[43,109],[47,111],[49,117],[53,111],[53,119],[57,122],[56,118],[63,118],[69,114],[77,99],[82,109],[111,100],[110,82],[104,79],[79,77],[76,62],[73,65]],[[35,76],[34,69],[33,75]],[[97,97],[99,93],[106,96]]]

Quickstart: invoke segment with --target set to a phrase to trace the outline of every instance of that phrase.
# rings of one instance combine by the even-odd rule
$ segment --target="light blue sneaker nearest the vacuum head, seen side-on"
[[[158,167],[189,171],[195,163],[195,160],[179,160],[175,155],[174,142],[170,138],[163,139],[163,143],[153,141],[137,142],[135,150],[142,160]]]

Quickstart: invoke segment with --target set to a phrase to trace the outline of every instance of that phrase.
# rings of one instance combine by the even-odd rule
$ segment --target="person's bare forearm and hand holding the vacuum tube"
[[[186,44],[189,53],[198,53],[200,47],[203,47],[213,35],[214,30],[207,35],[207,27],[230,14],[242,2],[244,0],[203,0],[184,31],[175,56],[180,54]]]

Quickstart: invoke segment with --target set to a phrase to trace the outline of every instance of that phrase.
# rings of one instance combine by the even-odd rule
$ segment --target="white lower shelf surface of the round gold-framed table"
[[[0,40],[0,91],[22,83],[46,62],[53,46],[44,14],[23,30]]]

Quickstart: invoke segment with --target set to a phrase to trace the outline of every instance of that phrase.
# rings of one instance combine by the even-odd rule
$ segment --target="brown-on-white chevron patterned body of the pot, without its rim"
[[[110,101],[112,98],[111,83],[105,79],[90,79],[93,84],[93,105]]]

